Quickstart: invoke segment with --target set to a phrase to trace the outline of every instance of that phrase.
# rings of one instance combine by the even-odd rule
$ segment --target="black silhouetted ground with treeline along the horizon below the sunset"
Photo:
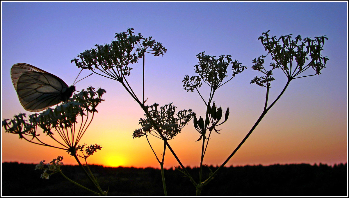
[[[216,167],[210,167],[213,171]],[[34,164],[2,163],[2,196],[94,196],[56,173],[40,178]],[[64,165],[70,179],[96,190],[79,166]],[[154,168],[90,165],[109,196],[162,196],[161,172]],[[197,176],[198,168],[187,169]],[[205,169],[208,173],[208,168]],[[169,196],[194,196],[195,187],[178,170],[165,170]],[[347,163],[335,166],[290,164],[225,167],[202,190],[202,196],[347,196]],[[203,176],[207,178],[207,175]],[[197,180],[197,178],[194,178]]]

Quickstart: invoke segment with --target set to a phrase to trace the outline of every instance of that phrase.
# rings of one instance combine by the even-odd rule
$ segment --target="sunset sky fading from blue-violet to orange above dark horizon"
[[[204,160],[214,166],[229,156],[263,110],[265,89],[250,84],[260,75],[251,69],[252,59],[266,55],[258,40],[261,33],[270,30],[269,35],[277,38],[290,33],[302,38],[326,35],[322,54],[329,60],[322,75],[291,81],[227,166],[347,162],[347,2],[1,2],[1,6],[2,119],[30,113],[21,106],[13,87],[13,64],[32,64],[71,85],[80,70],[70,60],[95,44],[110,44],[115,33],[127,28],[144,37],[153,36],[168,50],[163,57],[146,56],[147,105],[174,102],[178,110],[191,108],[203,115],[206,107],[199,94],[187,93],[181,82],[185,75],[194,75],[195,55],[202,51],[217,57],[229,54],[247,66],[218,89],[214,98],[217,105],[230,109],[221,134],[211,137]],[[141,96],[142,67],[132,67],[128,82]],[[88,74],[83,71],[81,77]],[[282,71],[275,71],[274,78],[270,100],[287,81]],[[121,84],[92,75],[77,83],[76,89],[88,86],[107,91],[80,142],[103,147],[89,163],[159,167],[146,139],[132,139],[144,112]],[[206,98],[208,88],[200,88]],[[2,162],[38,163],[63,155],[64,163],[76,164],[64,151],[20,140],[4,129],[1,136]],[[200,164],[198,138],[191,122],[170,140],[185,166]],[[160,154],[162,143],[154,138],[151,142]],[[165,157],[165,167],[178,166],[169,150]]]

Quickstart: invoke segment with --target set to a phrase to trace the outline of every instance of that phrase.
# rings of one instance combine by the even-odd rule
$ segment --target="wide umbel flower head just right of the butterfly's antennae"
[[[133,28],[126,32],[116,33],[117,40],[108,45],[95,45],[96,48],[86,50],[77,56],[80,59],[73,59],[78,68],[89,69],[101,76],[123,81],[124,76],[129,76],[132,68],[129,64],[138,62],[145,52],[154,56],[163,55],[166,48],[156,42],[152,37],[144,38],[140,33],[134,35]],[[151,50],[147,50],[151,48]],[[101,73],[94,71],[100,70]]]

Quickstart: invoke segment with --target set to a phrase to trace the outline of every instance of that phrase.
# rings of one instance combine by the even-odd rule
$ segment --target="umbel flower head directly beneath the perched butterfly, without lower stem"
[[[48,108],[42,113],[29,115],[28,120],[25,119],[26,114],[21,113],[12,120],[3,120],[2,126],[5,132],[17,134],[20,139],[60,148],[75,155],[75,148],[97,112],[97,105],[103,101],[104,93],[104,89],[95,91],[95,88],[89,87],[54,109]],[[38,127],[51,138],[50,143],[47,138],[40,138]]]

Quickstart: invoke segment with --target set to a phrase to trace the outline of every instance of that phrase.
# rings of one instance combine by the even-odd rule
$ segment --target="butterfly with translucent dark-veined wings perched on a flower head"
[[[25,110],[43,111],[72,97],[75,86],[68,86],[59,77],[27,63],[11,68],[11,78]]]

